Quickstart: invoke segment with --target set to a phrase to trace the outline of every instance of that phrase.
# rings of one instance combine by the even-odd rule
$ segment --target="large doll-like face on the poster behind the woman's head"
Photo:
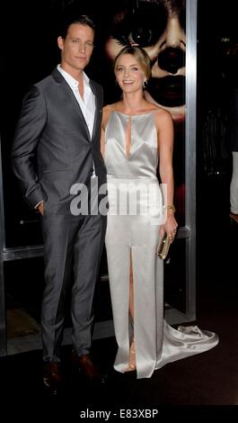
[[[128,44],[144,48],[152,62],[152,77],[147,98],[172,113],[174,121],[185,117],[185,14],[172,12],[161,4],[141,2],[136,11],[120,11],[105,44],[107,55],[114,60]]]

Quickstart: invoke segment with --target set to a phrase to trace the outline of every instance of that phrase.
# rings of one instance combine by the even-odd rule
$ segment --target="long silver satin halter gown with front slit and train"
[[[114,368],[121,373],[128,368],[129,341],[134,329],[137,378],[145,378],[169,362],[215,347],[218,338],[215,333],[202,332],[197,326],[172,329],[163,320],[163,260],[155,255],[162,195],[156,177],[158,151],[154,113],[131,117],[127,157],[128,120],[126,114],[111,112],[105,130],[110,205],[106,249],[119,347]],[[134,322],[128,315],[130,257]]]

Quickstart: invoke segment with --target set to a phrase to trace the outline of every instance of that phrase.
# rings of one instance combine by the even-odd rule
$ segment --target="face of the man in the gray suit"
[[[58,37],[61,66],[68,73],[82,71],[87,66],[93,53],[93,39],[93,29],[81,23],[72,23],[69,26],[65,40]]]

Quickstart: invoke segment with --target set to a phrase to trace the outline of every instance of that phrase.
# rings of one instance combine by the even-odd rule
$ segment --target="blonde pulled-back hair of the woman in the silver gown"
[[[119,58],[121,58],[121,56],[125,56],[125,54],[130,54],[137,59],[137,63],[144,71],[145,77],[148,80],[151,76],[151,61],[145,49],[141,49],[137,46],[127,46],[119,51],[119,54],[114,61],[114,73],[116,74]]]

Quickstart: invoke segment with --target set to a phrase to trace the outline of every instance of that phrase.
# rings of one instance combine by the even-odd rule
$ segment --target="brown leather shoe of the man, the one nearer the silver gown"
[[[78,371],[91,382],[105,383],[106,376],[102,375],[98,366],[93,363],[93,357],[90,354],[76,356],[72,353],[72,360],[77,365]]]

